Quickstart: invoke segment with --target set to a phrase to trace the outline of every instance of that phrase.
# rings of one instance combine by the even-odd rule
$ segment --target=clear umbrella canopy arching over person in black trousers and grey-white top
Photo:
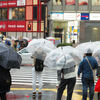
[[[58,47],[51,51],[45,58],[44,64],[48,67],[56,66],[57,60],[65,54],[69,54],[79,64],[83,56],[77,49],[71,46]]]

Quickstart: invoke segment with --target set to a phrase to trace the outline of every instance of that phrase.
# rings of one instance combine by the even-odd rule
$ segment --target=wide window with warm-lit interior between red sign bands
[[[25,20],[25,8],[10,8],[9,9],[9,19],[10,20]]]

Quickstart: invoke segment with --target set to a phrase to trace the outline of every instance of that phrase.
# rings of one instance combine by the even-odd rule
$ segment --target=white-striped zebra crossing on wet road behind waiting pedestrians
[[[11,70],[12,76],[12,84],[15,85],[32,85],[32,67],[21,66],[20,69],[12,69]],[[44,67],[44,71],[42,74],[43,84],[57,84],[57,71],[56,69],[50,69]],[[38,82],[37,82],[38,84]],[[77,78],[76,84],[80,85],[81,78]]]

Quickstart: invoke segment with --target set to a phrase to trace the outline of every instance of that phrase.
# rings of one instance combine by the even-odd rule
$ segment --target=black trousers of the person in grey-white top
[[[72,93],[76,83],[76,77],[70,79],[61,79],[57,90],[57,100],[61,100],[63,92],[67,86],[67,98],[66,100],[72,100]]]

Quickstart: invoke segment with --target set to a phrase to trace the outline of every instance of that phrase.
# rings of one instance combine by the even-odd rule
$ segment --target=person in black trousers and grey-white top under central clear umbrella
[[[61,100],[63,91],[67,86],[67,99],[72,100],[72,94],[74,90],[74,86],[76,83],[76,73],[75,73],[75,61],[70,55],[64,55],[57,61],[57,66],[63,65],[61,69],[57,68],[58,75],[58,90],[57,90],[57,99]],[[62,64],[63,63],[63,64]]]

